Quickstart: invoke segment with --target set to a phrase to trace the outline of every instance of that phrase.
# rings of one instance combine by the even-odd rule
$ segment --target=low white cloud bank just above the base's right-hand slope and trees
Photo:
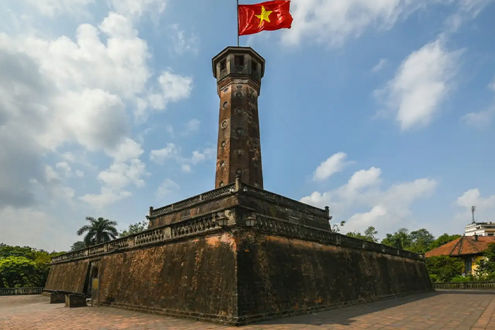
[[[383,189],[381,170],[371,167],[359,170],[347,184],[330,191],[315,191],[301,199],[303,203],[330,207],[332,221],[346,220],[344,231],[364,230],[373,225],[382,234],[408,225],[412,220],[411,206],[415,201],[435,191],[434,179],[392,184]],[[361,211],[368,209],[369,211]]]

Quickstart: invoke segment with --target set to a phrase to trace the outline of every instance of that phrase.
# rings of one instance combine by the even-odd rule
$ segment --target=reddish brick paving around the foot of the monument
[[[65,308],[48,297],[0,297],[0,329],[239,329],[109,307]],[[240,329],[494,329],[495,293],[437,291],[277,319]]]

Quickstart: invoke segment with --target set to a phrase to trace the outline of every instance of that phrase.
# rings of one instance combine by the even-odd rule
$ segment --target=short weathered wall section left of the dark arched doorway
[[[82,293],[88,265],[88,260],[52,265],[45,289]]]

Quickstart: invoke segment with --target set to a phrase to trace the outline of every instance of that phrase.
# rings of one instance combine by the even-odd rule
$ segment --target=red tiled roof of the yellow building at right
[[[428,257],[436,256],[461,256],[465,254],[481,254],[488,249],[488,244],[495,243],[494,236],[478,236],[478,240],[474,240],[474,236],[462,236],[457,240],[443,244],[441,247],[432,249],[424,255]]]

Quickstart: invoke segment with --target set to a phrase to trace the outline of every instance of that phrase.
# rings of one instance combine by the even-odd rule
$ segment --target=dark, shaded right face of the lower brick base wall
[[[240,317],[290,314],[430,288],[421,260],[254,232],[238,237]]]

